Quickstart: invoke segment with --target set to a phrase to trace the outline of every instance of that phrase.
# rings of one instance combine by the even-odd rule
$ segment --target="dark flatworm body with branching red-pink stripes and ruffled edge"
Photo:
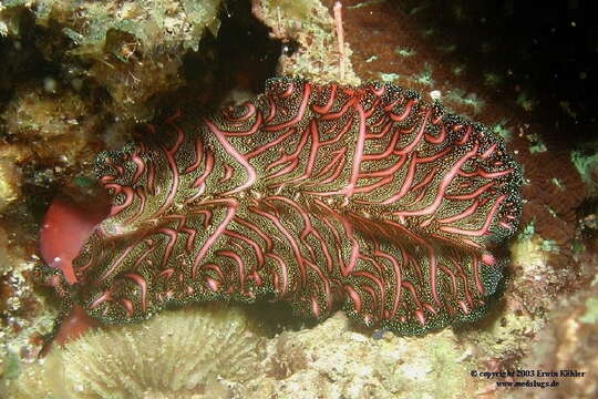
[[[151,126],[97,174],[113,205],[70,289],[106,323],[259,298],[400,334],[473,320],[520,213],[498,137],[380,83],[274,79],[238,108]]]

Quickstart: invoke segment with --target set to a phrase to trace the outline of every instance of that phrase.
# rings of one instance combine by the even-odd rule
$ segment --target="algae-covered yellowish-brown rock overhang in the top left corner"
[[[218,32],[220,2],[12,0],[0,10],[0,29],[19,38],[30,11],[47,31],[45,58],[73,78],[91,78],[113,99],[115,115],[138,122],[153,116],[157,93],[183,83],[183,55]]]

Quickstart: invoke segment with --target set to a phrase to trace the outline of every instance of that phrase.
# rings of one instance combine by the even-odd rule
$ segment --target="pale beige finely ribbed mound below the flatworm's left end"
[[[10,398],[221,398],[252,378],[266,339],[238,308],[165,311],[52,350],[8,382]]]

